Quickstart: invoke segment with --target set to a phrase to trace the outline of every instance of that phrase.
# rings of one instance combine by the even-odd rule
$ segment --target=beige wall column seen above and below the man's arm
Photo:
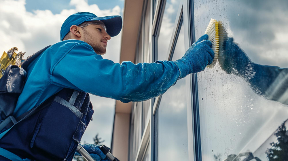
[[[121,38],[120,63],[135,61],[143,0],[125,0]],[[116,101],[111,152],[121,161],[128,160],[130,113],[133,102]]]

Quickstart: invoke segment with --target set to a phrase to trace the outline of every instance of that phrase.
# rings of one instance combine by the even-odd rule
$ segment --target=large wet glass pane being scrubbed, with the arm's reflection
[[[287,6],[194,0],[196,39],[211,18],[228,33],[216,66],[197,74],[202,160],[287,160]]]

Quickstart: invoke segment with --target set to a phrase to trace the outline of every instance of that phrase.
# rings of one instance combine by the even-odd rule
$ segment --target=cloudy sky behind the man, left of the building
[[[98,0],[0,0],[0,52],[17,47],[26,52],[26,58],[59,42],[61,25],[69,15],[92,12],[98,17],[122,16],[123,7],[124,0],[109,0],[109,3]],[[119,62],[121,33],[109,40],[104,59]],[[115,100],[91,94],[90,99],[95,112],[81,143],[93,143],[93,137],[99,133],[104,144],[110,147]]]

